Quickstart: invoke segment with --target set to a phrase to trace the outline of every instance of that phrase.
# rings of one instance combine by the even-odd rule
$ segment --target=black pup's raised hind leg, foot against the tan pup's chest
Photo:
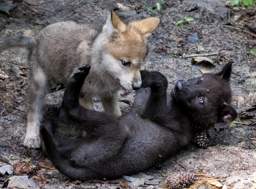
[[[90,66],[82,65],[71,74],[64,92],[59,116],[64,123],[79,125],[81,129],[87,131],[87,135],[97,133],[96,127],[102,126],[101,129],[106,129],[106,123],[115,125],[113,123],[117,121],[113,115],[87,110],[79,104],[79,93],[89,70]]]

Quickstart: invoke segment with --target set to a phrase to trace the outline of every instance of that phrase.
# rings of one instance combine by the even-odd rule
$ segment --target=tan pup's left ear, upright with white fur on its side
[[[114,33],[125,30],[125,24],[118,18],[114,11],[110,12],[106,21],[107,34],[111,37]]]

